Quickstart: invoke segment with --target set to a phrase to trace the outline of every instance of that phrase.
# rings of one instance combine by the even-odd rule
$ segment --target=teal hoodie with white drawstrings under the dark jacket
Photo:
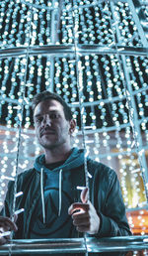
[[[49,170],[45,166],[44,155],[35,162],[40,172],[41,196],[37,202],[30,238],[69,238],[78,237],[78,233],[68,215],[68,207],[80,200],[77,186],[85,186],[84,151],[72,149],[69,158],[59,167]],[[78,170],[82,175],[77,175]],[[42,177],[44,176],[44,182]]]

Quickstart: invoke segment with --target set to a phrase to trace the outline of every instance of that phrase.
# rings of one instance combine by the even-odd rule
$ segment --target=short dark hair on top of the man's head
[[[72,119],[71,108],[68,106],[68,104],[62,99],[62,97],[60,95],[58,95],[54,92],[50,92],[48,90],[44,90],[42,92],[39,92],[34,96],[34,98],[32,100],[33,111],[35,110],[35,108],[37,107],[37,104],[39,102],[44,101],[46,99],[55,99],[55,100],[57,100],[63,106],[66,120],[70,121]]]

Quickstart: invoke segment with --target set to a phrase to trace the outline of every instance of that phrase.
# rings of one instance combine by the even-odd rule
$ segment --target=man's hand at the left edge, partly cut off
[[[17,216],[15,216],[15,221]],[[0,245],[5,244],[7,239],[10,238],[9,235],[3,236],[3,233],[8,231],[17,231],[18,227],[15,222],[13,222],[9,217],[0,216]]]

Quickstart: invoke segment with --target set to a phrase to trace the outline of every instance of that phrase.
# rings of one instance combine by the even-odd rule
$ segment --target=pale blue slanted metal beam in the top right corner
[[[148,22],[142,10],[139,0],[127,0],[134,22],[137,26],[141,42],[144,47],[148,47]]]

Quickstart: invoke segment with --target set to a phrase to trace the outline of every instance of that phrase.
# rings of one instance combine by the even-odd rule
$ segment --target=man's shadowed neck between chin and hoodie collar
[[[46,150],[44,151],[45,154],[45,164],[52,164],[60,161],[65,161],[71,154],[71,148],[66,150]]]

